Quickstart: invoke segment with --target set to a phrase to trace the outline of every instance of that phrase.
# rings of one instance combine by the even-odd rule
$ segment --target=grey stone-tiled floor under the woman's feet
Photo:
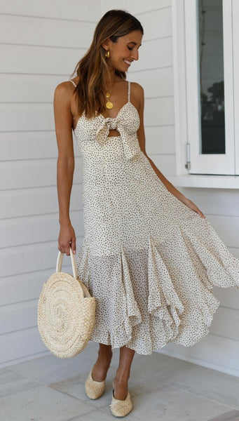
[[[50,354],[2,368],[0,420],[116,420],[109,404],[119,349],[100,399],[89,399],[84,389],[97,349],[89,342],[73,359]],[[134,405],[128,421],[239,421],[238,377],[153,352],[135,354],[128,386]]]

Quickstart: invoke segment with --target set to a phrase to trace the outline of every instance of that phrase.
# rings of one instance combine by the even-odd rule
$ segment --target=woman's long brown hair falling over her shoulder
[[[117,42],[119,36],[137,30],[144,34],[144,29],[139,20],[130,13],[121,10],[108,11],[98,22],[90,48],[77,63],[74,73],[71,74],[71,76],[74,74],[79,76],[75,88],[78,95],[79,115],[85,112],[86,117],[91,117],[95,115],[95,112],[106,110],[106,74],[109,70],[102,42],[108,38]],[[125,72],[116,69],[115,73],[121,79],[126,79]]]

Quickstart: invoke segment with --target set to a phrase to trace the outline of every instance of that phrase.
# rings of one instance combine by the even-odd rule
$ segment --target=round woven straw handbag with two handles
[[[73,276],[61,272],[64,254],[59,252],[55,274],[43,283],[37,323],[41,339],[59,358],[70,358],[86,347],[95,326],[95,297],[78,279],[70,248]]]

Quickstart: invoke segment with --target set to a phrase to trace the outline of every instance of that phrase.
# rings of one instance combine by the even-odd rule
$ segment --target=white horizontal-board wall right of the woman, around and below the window
[[[102,1],[102,13],[117,2]],[[164,175],[175,174],[175,116],[172,52],[171,0],[121,0],[121,8],[142,22],[144,36],[139,61],[128,79],[144,87],[146,152]],[[203,210],[233,255],[239,258],[239,195],[236,190],[186,189],[185,196]],[[193,347],[168,344],[160,352],[239,375],[239,291],[214,288],[220,306],[214,314],[210,333]]]

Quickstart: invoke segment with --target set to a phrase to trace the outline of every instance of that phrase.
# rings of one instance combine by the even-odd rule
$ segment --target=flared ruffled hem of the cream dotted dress
[[[118,256],[100,258],[90,255],[84,239],[77,260],[78,276],[98,300],[98,314],[90,340],[112,348],[125,345],[138,354],[151,354],[168,342],[185,347],[196,344],[209,333],[208,327],[219,307],[212,288],[239,288],[239,260],[203,218],[196,225],[193,220],[183,222],[163,243],[157,243],[149,236],[148,247],[140,251],[147,265],[144,305],[137,302],[137,286],[133,288],[132,283],[129,253],[134,252],[122,245]],[[111,259],[109,272],[105,272],[112,286],[108,292],[109,313],[101,307],[104,298],[100,292],[97,296],[97,276],[94,269],[90,269],[95,267],[97,258],[104,258],[104,265]],[[101,263],[100,270],[104,270],[104,265]],[[117,265],[115,272],[114,265]]]

